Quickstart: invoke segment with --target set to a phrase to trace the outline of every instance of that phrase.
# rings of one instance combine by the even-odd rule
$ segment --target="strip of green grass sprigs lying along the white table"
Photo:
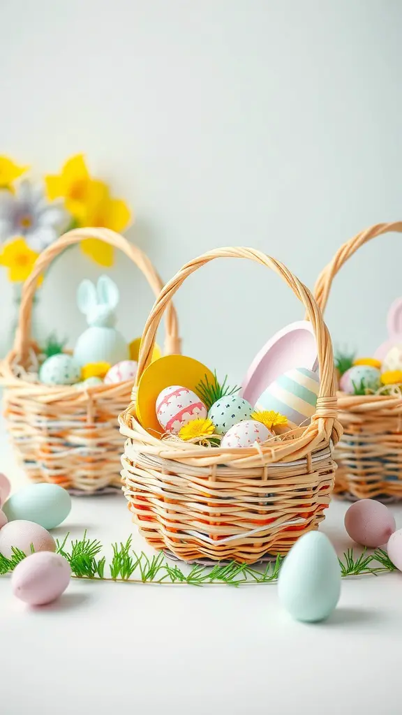
[[[112,558],[109,563],[109,576],[106,576],[106,556],[100,556],[103,546],[97,539],[84,537],[71,541],[67,546],[69,534],[60,543],[57,541],[57,553],[67,558],[72,568],[74,578],[92,579],[93,581],[114,581],[119,583],[153,583],[172,586],[250,586],[278,581],[283,556],[277,556],[275,561],[268,561],[263,567],[250,566],[247,563],[216,563],[214,566],[202,566],[195,563],[187,566],[188,573],[182,571],[178,563],[167,561],[165,554],[160,552],[155,556],[136,553],[132,549],[132,537],[125,543],[112,544]],[[32,548],[31,548],[32,551]],[[23,551],[12,549],[12,556],[6,558],[0,554],[0,576],[11,573],[17,564],[26,558]],[[353,576],[379,576],[381,573],[391,573],[396,570],[391,559],[383,549],[368,553],[366,549],[355,556],[352,548],[339,558],[340,573],[343,578]]]

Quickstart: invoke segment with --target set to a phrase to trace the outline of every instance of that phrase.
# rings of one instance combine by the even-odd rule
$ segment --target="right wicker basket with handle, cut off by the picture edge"
[[[348,258],[364,243],[391,231],[402,232],[402,222],[373,226],[340,247],[315,286],[322,310],[333,279]],[[402,398],[338,392],[338,410],[343,437],[335,450],[335,493],[349,499],[401,498]]]

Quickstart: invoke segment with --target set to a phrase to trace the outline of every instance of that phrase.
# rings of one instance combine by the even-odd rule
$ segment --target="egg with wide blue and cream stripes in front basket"
[[[307,368],[294,368],[280,375],[257,400],[257,410],[274,410],[301,425],[313,417],[320,390],[317,373]]]

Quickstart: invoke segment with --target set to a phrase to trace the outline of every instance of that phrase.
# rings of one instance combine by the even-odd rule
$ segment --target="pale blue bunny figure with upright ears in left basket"
[[[83,280],[77,290],[79,310],[87,316],[89,327],[79,336],[74,359],[82,368],[88,363],[109,363],[128,360],[129,347],[116,330],[115,310],[119,303],[119,289],[107,275],[101,275],[95,287]]]

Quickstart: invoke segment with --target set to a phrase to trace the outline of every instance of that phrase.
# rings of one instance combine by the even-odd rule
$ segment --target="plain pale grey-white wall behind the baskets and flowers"
[[[338,246],[402,215],[397,0],[2,0],[0,153],[57,172],[85,152],[127,197],[129,237],[167,280],[202,251],[250,245],[308,285]],[[371,352],[401,292],[398,235],[342,271],[328,323]],[[274,330],[303,316],[263,268],[215,262],[177,295],[184,350],[242,377]],[[44,288],[46,331],[84,328],[75,290],[97,267],[70,253]],[[119,257],[120,325],[152,295]],[[1,339],[10,288],[0,274]]]

